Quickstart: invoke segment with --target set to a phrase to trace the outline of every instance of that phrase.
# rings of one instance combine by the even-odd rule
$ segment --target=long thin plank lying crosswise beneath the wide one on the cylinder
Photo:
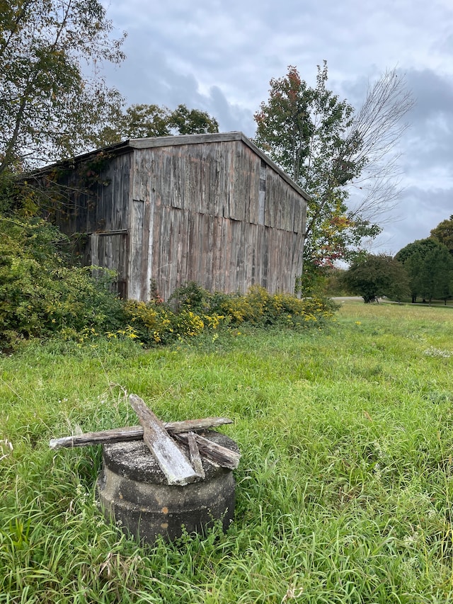
[[[224,426],[233,421],[226,417],[205,417],[201,419],[187,419],[185,421],[164,422],[164,428],[169,434],[180,432],[205,430],[215,426]],[[113,428],[98,432],[86,432],[74,436],[52,438],[49,442],[51,449],[64,447],[85,447],[87,445],[106,445],[108,443],[122,443],[127,440],[143,440],[143,426],[127,426],[126,428]]]

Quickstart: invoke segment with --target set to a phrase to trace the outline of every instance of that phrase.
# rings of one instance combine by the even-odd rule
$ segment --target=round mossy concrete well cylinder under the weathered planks
[[[239,452],[228,436],[214,431],[204,436]],[[149,544],[158,535],[176,539],[183,527],[189,533],[203,532],[218,520],[226,530],[234,515],[233,472],[205,459],[202,462],[205,479],[185,486],[168,485],[142,440],[104,445],[97,490],[105,515],[124,532]]]

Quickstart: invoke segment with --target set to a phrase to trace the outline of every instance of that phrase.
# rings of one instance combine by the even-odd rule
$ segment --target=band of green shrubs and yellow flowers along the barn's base
[[[124,302],[111,292],[113,271],[69,266],[69,248],[45,220],[0,217],[0,349],[53,335],[78,342],[124,336],[150,347],[226,325],[300,329],[333,312],[325,300],[270,295],[258,285],[246,295],[212,295],[190,282],[167,304],[153,286],[150,302]]]

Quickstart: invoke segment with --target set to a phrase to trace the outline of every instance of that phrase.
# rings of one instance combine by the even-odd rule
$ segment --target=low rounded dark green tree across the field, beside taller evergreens
[[[358,257],[343,275],[348,291],[362,296],[365,303],[387,296],[401,300],[408,295],[408,275],[403,265],[385,254]]]

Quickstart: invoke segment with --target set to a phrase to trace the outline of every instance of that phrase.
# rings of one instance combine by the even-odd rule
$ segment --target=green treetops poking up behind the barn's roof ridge
[[[205,132],[219,132],[217,120],[205,111],[188,109],[185,105],[178,105],[173,111],[157,105],[132,105],[125,111],[117,108],[110,118],[110,124],[103,130],[101,139],[103,144],[112,144],[128,138]]]

